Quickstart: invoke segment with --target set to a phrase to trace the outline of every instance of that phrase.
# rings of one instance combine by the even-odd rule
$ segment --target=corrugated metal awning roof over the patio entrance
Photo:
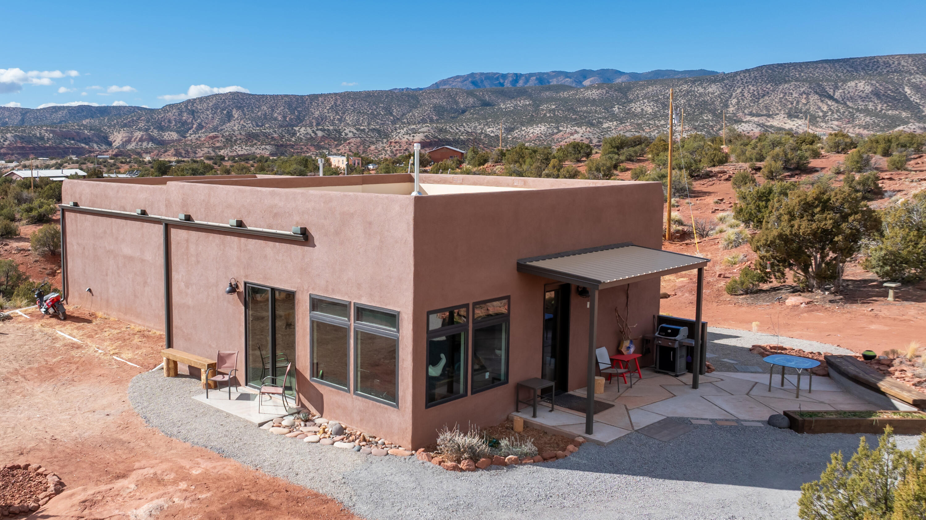
[[[707,266],[708,258],[651,249],[631,242],[547,254],[518,260],[518,271],[607,289]]]

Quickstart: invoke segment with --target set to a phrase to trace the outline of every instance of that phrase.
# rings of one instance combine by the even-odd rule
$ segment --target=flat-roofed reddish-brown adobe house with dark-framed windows
[[[417,448],[505,420],[528,378],[594,396],[590,349],[615,352],[615,308],[652,333],[658,277],[707,262],[659,251],[658,182],[420,182],[65,180],[62,289],[169,348],[237,350],[241,385],[292,362],[301,405]]]

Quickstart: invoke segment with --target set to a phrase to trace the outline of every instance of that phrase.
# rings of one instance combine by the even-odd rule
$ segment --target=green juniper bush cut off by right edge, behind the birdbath
[[[882,232],[864,266],[880,279],[926,279],[926,192],[882,211]]]

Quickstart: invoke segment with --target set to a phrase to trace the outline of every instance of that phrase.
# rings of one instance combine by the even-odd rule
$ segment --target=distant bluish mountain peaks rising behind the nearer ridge
[[[428,91],[432,89],[492,89],[497,87],[533,87],[537,85],[569,85],[587,87],[596,83],[623,83],[625,81],[664,80],[666,78],[692,78],[720,74],[716,70],[650,70],[649,72],[621,72],[616,68],[589,70],[582,68],[575,72],[553,70],[550,72],[472,72],[462,76],[446,78],[419,88],[392,89],[394,92]]]

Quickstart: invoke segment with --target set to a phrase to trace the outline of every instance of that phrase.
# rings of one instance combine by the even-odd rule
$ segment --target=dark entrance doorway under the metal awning
[[[557,394],[569,390],[568,283],[544,287],[544,349],[541,378],[557,384]]]

